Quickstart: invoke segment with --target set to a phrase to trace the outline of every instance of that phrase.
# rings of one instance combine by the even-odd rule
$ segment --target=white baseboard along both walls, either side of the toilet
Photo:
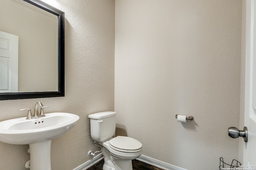
[[[99,162],[102,159],[103,159],[103,155],[102,155],[102,153],[100,153],[97,156],[95,156],[94,158],[92,158],[91,160],[88,160],[84,164],[74,168],[73,170],[86,170],[86,169],[90,168],[91,166],[93,166],[94,164],[96,164],[97,162]],[[184,168],[180,168],[178,166],[174,166],[172,164],[168,164],[166,162],[162,162],[160,160],[156,160],[154,158],[150,158],[150,157],[145,156],[145,155],[140,155],[140,157],[138,157],[136,159],[140,160],[141,162],[145,162],[147,164],[156,166],[158,168],[162,168],[164,170],[186,170]]]

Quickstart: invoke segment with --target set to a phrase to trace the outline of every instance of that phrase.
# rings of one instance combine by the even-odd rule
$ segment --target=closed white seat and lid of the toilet
[[[131,137],[117,136],[108,143],[109,147],[120,152],[139,152],[142,143]]]

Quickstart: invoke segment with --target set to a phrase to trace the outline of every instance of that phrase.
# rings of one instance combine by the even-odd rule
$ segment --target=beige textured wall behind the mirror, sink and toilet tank
[[[114,110],[114,0],[43,0],[65,12],[65,97],[0,101],[0,121],[26,116],[39,100],[45,112],[80,116],[77,125],[52,141],[52,170],[72,170],[91,159],[91,113]],[[0,169],[26,170],[28,145],[0,142]]]

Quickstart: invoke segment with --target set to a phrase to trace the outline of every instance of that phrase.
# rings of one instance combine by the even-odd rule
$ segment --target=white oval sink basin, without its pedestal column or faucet
[[[45,117],[26,117],[0,122],[0,141],[25,145],[50,141],[69,131],[79,120],[71,113],[46,113]]]

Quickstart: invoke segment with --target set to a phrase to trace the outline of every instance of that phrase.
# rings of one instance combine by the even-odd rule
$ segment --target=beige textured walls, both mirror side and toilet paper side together
[[[227,129],[239,119],[242,1],[116,0],[116,10],[114,0],[43,1],[66,15],[66,96],[0,101],[0,121],[38,100],[46,113],[79,115],[52,141],[52,170],[92,158],[88,114],[113,110],[114,97],[118,127],[146,156],[189,170],[238,157]],[[178,123],[177,113],[195,121]],[[0,143],[0,169],[25,170],[27,149]]]

